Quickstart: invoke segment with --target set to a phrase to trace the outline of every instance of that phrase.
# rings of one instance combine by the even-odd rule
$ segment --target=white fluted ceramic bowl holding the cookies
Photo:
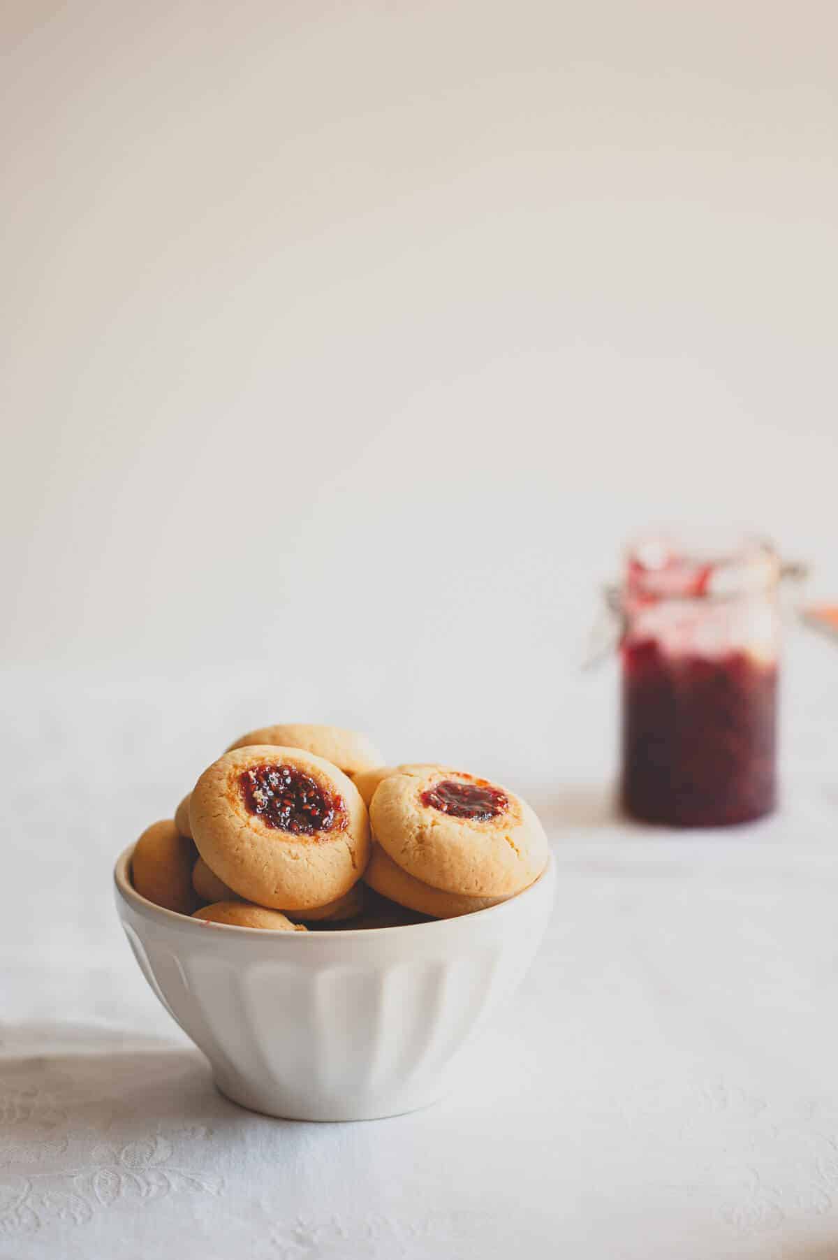
[[[294,1120],[370,1120],[435,1101],[510,997],[550,916],[554,863],[512,901],[365,931],[268,932],[161,910],[116,864],[142,973],[235,1102]]]

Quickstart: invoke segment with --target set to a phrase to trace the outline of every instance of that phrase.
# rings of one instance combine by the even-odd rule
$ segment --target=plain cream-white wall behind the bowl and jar
[[[184,735],[209,688],[559,765],[634,529],[742,523],[837,593],[837,38],[805,0],[4,6],[6,664],[159,685]]]

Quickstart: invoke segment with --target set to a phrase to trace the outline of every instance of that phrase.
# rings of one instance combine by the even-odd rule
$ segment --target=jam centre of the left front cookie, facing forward
[[[346,825],[344,798],[297,766],[250,766],[239,788],[249,811],[278,832],[315,835]]]

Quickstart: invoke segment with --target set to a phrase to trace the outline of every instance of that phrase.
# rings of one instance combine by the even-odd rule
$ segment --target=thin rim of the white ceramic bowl
[[[471,915],[457,915],[453,919],[432,919],[425,924],[398,924],[390,927],[337,927],[337,929],[307,929],[304,932],[271,932],[265,931],[263,927],[242,927],[238,924],[214,924],[206,919],[193,919],[191,915],[181,915],[176,910],[166,910],[165,906],[156,906],[154,901],[148,901],[142,893],[131,883],[131,857],[133,854],[135,844],[128,844],[127,848],[120,853],[113,867],[113,883],[117,896],[128,905],[135,914],[141,915],[143,919],[148,919],[152,922],[167,924],[169,927],[174,927],[177,931],[191,932],[196,927],[214,929],[220,932],[230,934],[230,939],[234,940],[237,936],[243,940],[281,940],[281,941],[303,941],[307,936],[317,936],[322,940],[333,940],[336,937],[351,936],[355,940],[367,937],[372,932],[416,932],[422,930],[435,930],[450,931],[453,925],[466,924],[468,921],[479,920],[484,922],[487,915],[493,915],[498,917],[503,914],[513,912],[518,910],[521,902],[535,893],[536,891],[544,888],[545,883],[549,883],[552,878],[555,869],[555,858],[552,852],[547,854],[547,862],[545,864],[541,874],[532,881],[532,883],[523,890],[523,892],[516,893],[516,896],[510,897],[507,901],[500,902],[497,906],[487,906],[484,910],[476,910]],[[292,911],[293,914],[293,911]],[[193,926],[187,926],[193,925]],[[454,929],[462,930],[462,929]]]

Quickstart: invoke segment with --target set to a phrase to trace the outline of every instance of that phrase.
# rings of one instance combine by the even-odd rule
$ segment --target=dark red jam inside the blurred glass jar
[[[623,804],[635,818],[722,827],[776,803],[776,665],[731,650],[623,645]]]

